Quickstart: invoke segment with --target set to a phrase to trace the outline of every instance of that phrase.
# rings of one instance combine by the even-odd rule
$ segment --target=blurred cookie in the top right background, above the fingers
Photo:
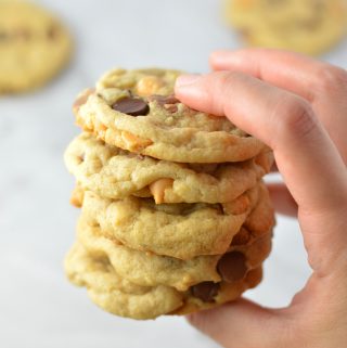
[[[347,0],[226,0],[224,12],[255,47],[317,55],[347,31]]]

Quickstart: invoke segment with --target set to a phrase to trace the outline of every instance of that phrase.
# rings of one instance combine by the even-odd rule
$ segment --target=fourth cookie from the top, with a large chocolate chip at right
[[[220,282],[244,278],[257,268],[271,249],[271,231],[247,245],[234,245],[226,255],[198,256],[180,260],[143,253],[103,236],[100,227],[90,224],[83,216],[77,227],[77,239],[90,254],[107,256],[115,271],[131,283],[142,286],[167,285],[187,291],[202,282]],[[237,267],[230,267],[236,263]],[[234,273],[235,271],[235,273]]]

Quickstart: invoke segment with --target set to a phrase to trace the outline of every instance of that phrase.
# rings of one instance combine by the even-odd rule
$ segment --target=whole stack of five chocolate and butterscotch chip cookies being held
[[[224,117],[174,96],[179,72],[114,69],[74,104],[65,162],[81,207],[69,280],[114,314],[185,314],[261,280],[272,153]]]

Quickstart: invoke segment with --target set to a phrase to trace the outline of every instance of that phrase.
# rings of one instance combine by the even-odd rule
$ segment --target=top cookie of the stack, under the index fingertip
[[[189,108],[170,95],[179,72],[115,69],[74,105],[77,124],[111,145],[178,163],[249,159],[266,149],[226,117]]]

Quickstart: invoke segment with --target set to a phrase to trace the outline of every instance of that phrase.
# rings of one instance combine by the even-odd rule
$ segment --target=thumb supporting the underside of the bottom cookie
[[[188,321],[228,348],[291,347],[294,325],[281,310],[270,310],[247,299],[192,313]],[[268,334],[267,334],[268,333]]]

